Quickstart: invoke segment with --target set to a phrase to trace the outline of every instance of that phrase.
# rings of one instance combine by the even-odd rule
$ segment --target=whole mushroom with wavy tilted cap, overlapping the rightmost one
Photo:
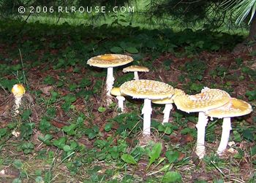
[[[230,101],[230,95],[218,89],[204,87],[201,93],[194,96],[177,96],[173,98],[177,108],[184,112],[199,112],[197,122],[197,146],[195,153],[202,159],[206,154],[205,133],[208,117],[205,112],[227,104]]]

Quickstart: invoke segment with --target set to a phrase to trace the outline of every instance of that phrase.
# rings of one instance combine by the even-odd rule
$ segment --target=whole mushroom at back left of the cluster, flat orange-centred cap
[[[107,105],[110,105],[111,95],[110,90],[113,88],[114,77],[113,77],[113,67],[123,66],[127,63],[133,61],[133,58],[128,55],[120,55],[120,54],[105,54],[98,55],[96,57],[90,58],[87,61],[87,64],[90,66],[95,66],[99,68],[108,68],[107,79],[106,79],[106,92],[107,92]]]

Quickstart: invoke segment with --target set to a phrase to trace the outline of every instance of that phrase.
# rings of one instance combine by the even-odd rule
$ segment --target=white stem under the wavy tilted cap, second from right
[[[198,114],[198,122],[197,122],[197,147],[195,149],[195,154],[200,159],[203,159],[206,154],[205,147],[205,134],[206,134],[206,125],[208,122],[208,117],[204,114],[204,112],[199,112]]]

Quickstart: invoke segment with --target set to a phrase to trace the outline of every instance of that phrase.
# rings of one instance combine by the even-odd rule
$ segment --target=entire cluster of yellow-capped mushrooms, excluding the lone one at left
[[[124,112],[125,96],[132,98],[142,98],[144,106],[143,114],[143,135],[150,136],[151,133],[151,102],[154,104],[165,104],[163,111],[164,117],[162,123],[169,121],[170,111],[173,104],[177,109],[184,112],[198,112],[197,144],[195,153],[202,159],[206,154],[205,133],[208,117],[223,118],[222,137],[217,149],[217,154],[222,155],[227,147],[230,135],[231,122],[230,117],[238,117],[252,112],[252,106],[245,101],[231,98],[224,90],[210,89],[204,87],[196,95],[187,95],[183,90],[173,88],[164,83],[148,79],[139,79],[138,71],[148,72],[149,69],[143,66],[128,66],[123,72],[133,71],[134,80],[124,82],[120,87],[113,87],[113,67],[123,66],[132,62],[132,57],[128,55],[105,54],[90,58],[87,63],[90,66],[108,68],[106,79],[107,104],[112,100],[110,96],[116,96],[118,108]]]

